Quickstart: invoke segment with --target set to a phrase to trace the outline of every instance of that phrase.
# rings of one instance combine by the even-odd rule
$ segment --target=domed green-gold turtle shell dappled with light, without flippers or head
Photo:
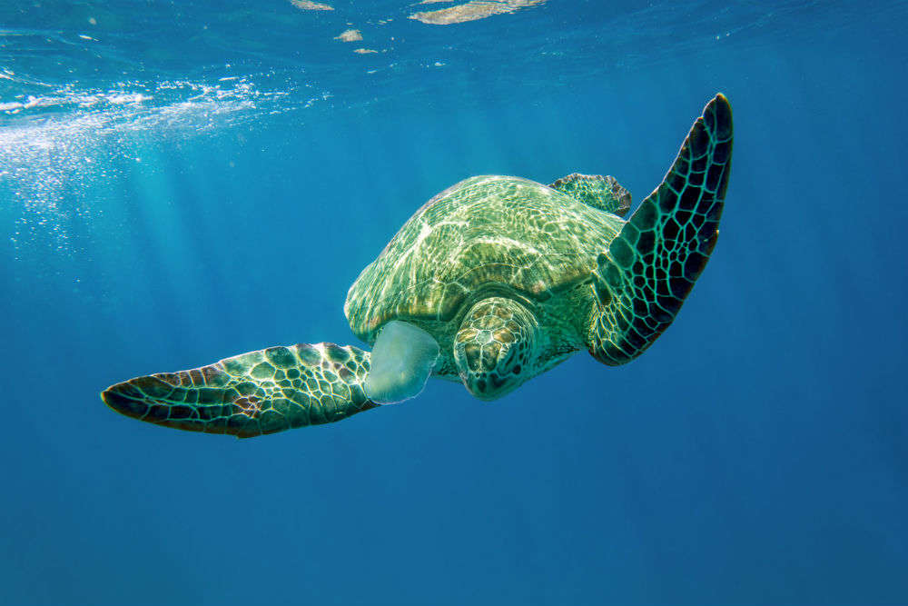
[[[410,217],[350,286],[344,313],[367,343],[384,323],[430,333],[485,296],[530,303],[590,276],[624,222],[527,179],[472,177]]]

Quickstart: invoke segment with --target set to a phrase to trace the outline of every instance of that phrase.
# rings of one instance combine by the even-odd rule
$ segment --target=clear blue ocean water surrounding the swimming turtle
[[[0,602],[908,602],[908,4],[327,4],[0,7]],[[719,91],[721,236],[634,363],[243,441],[98,397],[361,345],[347,289],[433,194],[637,204]]]

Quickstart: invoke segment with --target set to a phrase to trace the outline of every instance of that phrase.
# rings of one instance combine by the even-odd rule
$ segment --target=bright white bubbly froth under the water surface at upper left
[[[18,78],[8,70],[3,75]],[[0,191],[17,207],[16,250],[40,245],[64,254],[73,252],[67,224],[103,212],[80,192],[114,176],[123,165],[114,159],[142,163],[136,152],[142,141],[210,133],[331,98],[313,89],[297,104],[293,100],[304,98],[297,86],[262,90],[243,76],[212,84],[126,82],[104,90],[44,86],[45,94],[0,100]]]

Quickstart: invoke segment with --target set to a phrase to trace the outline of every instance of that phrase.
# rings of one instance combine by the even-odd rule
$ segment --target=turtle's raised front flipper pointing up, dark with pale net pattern
[[[587,346],[599,362],[633,360],[675,319],[716,245],[731,154],[732,110],[717,94],[662,184],[598,256]]]

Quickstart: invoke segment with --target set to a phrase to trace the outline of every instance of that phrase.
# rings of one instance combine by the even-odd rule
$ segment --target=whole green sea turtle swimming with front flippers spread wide
[[[101,396],[143,421],[250,437],[412,397],[429,374],[492,400],[580,349],[627,363],[672,323],[706,265],[731,152],[731,107],[717,94],[627,222],[630,194],[612,177],[461,181],[413,214],[350,287],[344,312],[371,353],[271,347]]]

